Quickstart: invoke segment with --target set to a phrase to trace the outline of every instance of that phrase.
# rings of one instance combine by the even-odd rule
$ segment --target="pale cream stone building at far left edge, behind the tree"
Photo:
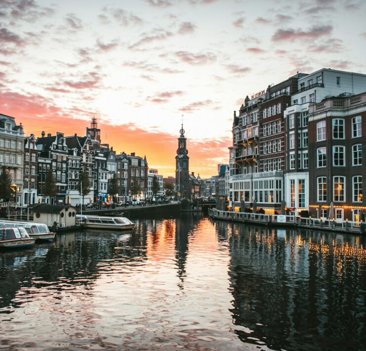
[[[14,117],[0,114],[0,167],[5,166],[9,172],[18,204],[23,203],[23,158],[22,125],[17,126]]]

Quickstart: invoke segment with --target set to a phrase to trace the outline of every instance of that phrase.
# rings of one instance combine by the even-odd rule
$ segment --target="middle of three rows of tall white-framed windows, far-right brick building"
[[[352,145],[352,166],[362,166],[362,144]],[[345,146],[333,146],[333,166],[345,167]],[[317,149],[317,167],[326,167],[326,147]]]

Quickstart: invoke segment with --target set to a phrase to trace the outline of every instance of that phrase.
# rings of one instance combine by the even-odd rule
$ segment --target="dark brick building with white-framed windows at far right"
[[[311,215],[365,220],[366,92],[309,107],[309,150]]]

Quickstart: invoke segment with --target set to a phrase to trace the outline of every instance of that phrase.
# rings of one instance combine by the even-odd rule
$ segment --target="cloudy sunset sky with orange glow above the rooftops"
[[[85,134],[173,175],[228,162],[246,95],[322,67],[366,73],[359,0],[0,0],[0,113],[26,134]]]

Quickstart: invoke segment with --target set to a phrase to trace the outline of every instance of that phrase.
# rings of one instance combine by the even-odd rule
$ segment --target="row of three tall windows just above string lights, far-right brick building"
[[[345,176],[333,176],[333,201],[346,201]],[[327,202],[326,177],[317,178],[317,199],[318,202]],[[352,177],[352,202],[362,202],[362,175]]]

